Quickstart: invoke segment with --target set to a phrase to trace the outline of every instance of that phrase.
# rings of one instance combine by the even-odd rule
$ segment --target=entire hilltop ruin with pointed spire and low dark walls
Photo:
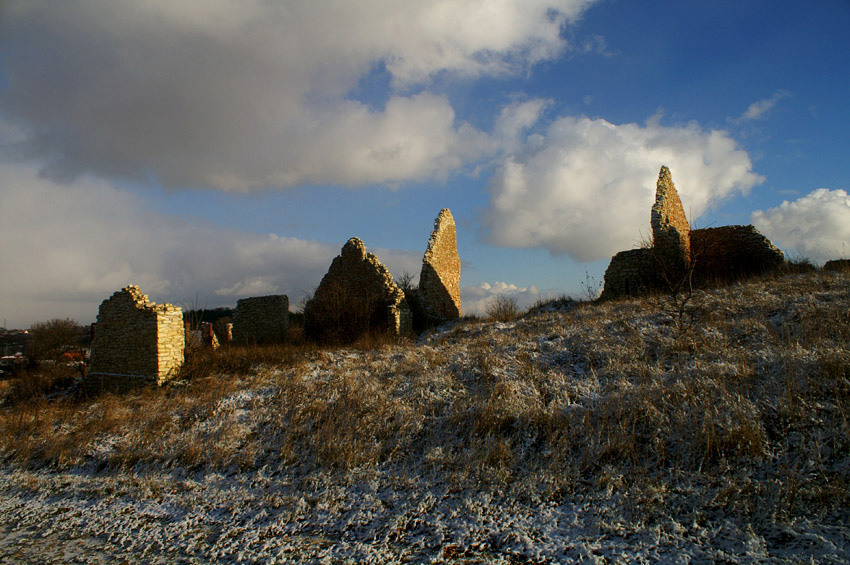
[[[736,280],[785,262],[782,251],[751,225],[692,230],[667,167],[658,175],[650,224],[650,246],[611,258],[603,299]]]

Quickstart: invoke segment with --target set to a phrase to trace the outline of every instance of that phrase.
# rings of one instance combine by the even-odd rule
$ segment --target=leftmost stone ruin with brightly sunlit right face
[[[183,365],[183,311],[156,304],[130,285],[104,300],[97,314],[89,392],[125,390],[153,381],[162,385]]]

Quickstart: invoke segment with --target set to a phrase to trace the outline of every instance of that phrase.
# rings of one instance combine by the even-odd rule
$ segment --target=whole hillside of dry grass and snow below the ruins
[[[0,560],[850,560],[850,275],[0,409]]]

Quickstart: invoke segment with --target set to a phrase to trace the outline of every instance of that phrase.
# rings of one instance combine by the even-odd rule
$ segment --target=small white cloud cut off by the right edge
[[[850,257],[850,195],[819,188],[794,202],[757,210],[753,225],[776,245],[816,261]]]

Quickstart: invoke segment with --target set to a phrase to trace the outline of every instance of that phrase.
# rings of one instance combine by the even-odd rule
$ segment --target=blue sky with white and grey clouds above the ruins
[[[0,318],[293,308],[350,237],[463,310],[597,290],[693,227],[850,257],[850,1],[0,0]]]

